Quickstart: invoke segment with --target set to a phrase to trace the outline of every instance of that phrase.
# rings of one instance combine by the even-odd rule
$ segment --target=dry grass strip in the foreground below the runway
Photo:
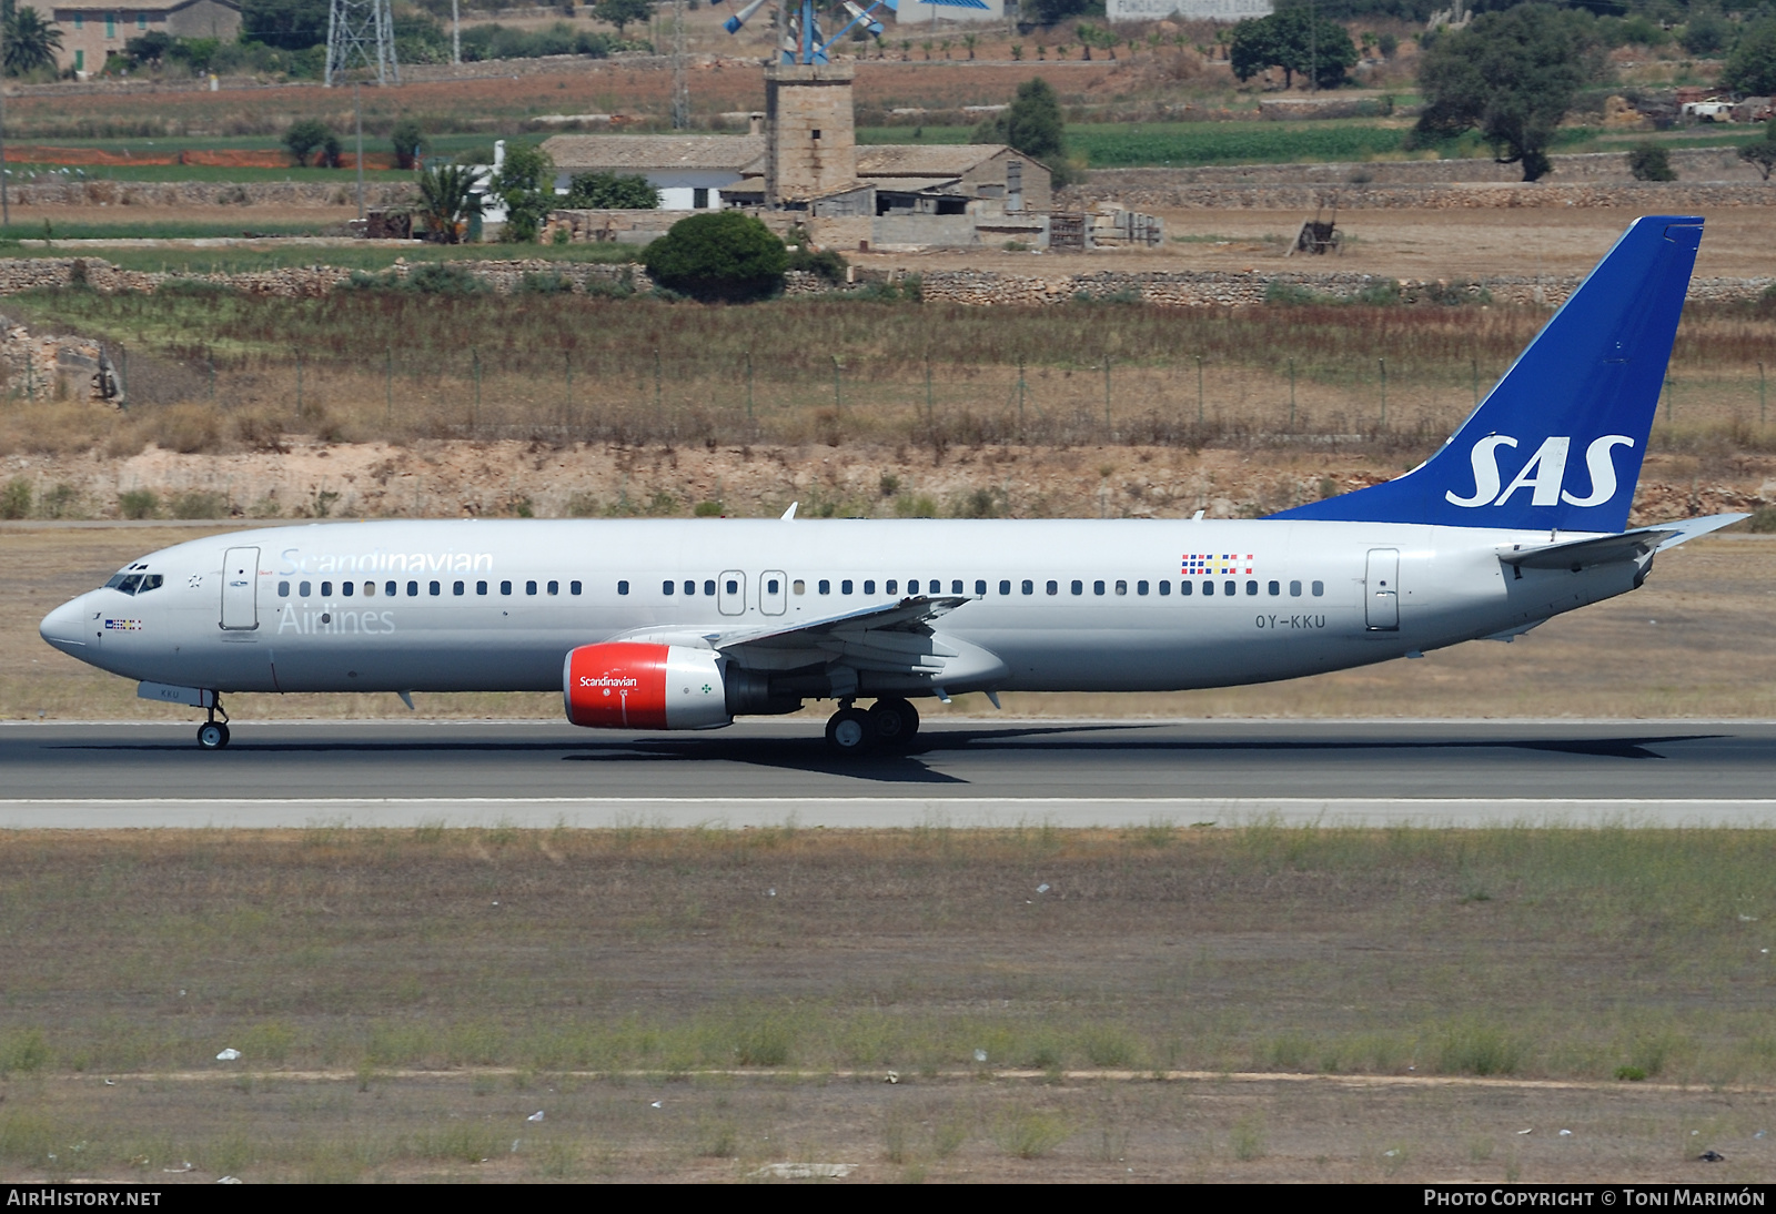
[[[12,834],[0,1175],[1685,1179],[1714,1147],[1733,1168],[1707,1179],[1737,1180],[1772,1163],[1772,848],[1167,824]],[[1064,1077],[1094,1051],[1124,1076],[1504,1086]],[[1542,1077],[1577,1086],[1511,1086]]]

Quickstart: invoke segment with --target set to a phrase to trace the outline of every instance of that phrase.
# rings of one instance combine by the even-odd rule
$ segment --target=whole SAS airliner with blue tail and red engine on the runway
[[[222,692],[561,689],[614,729],[835,699],[842,753],[906,745],[920,696],[1227,687],[1511,637],[1742,518],[1623,531],[1700,240],[1637,220],[1431,460],[1272,518],[277,527],[153,552],[41,632],[204,708],[206,749]]]

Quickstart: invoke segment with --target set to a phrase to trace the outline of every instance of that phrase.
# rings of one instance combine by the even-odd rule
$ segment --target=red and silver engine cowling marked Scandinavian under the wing
[[[733,724],[721,658],[682,644],[583,644],[561,671],[567,719],[595,729],[716,729]]]

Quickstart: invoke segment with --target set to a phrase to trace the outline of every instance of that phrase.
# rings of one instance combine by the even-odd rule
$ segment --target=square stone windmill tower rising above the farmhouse
[[[854,75],[840,64],[765,67],[765,206],[805,202],[856,183]]]

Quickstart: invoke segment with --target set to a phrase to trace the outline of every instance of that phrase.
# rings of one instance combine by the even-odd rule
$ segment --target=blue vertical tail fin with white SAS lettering
[[[1700,218],[1634,220],[1442,451],[1273,518],[1621,531],[1700,243]]]

